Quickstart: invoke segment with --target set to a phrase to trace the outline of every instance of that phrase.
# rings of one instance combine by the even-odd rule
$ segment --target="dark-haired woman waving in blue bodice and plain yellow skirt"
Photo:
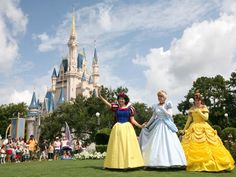
[[[100,91],[99,97],[115,112],[116,116],[116,124],[112,128],[107,146],[104,168],[128,169],[144,166],[137,136],[132,125],[143,128],[144,124],[140,125],[135,121],[134,110],[132,107],[127,107],[128,96],[124,93],[119,94],[117,97],[118,104],[109,103],[101,96]]]

